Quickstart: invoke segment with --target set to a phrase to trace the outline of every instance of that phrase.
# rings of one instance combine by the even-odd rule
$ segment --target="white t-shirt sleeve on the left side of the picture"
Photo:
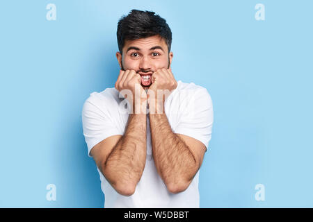
[[[90,151],[99,142],[111,137],[112,135],[121,135],[118,128],[113,123],[113,117],[108,110],[109,103],[98,101],[96,96],[90,96],[83,104],[81,112],[83,123],[83,135],[88,147],[88,156]]]

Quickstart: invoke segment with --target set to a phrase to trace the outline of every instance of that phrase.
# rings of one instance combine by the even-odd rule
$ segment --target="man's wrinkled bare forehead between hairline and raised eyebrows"
[[[164,51],[167,49],[165,40],[159,35],[140,38],[137,40],[126,40],[123,51],[127,50],[131,46],[137,47],[142,51],[148,51],[154,46],[161,46]]]

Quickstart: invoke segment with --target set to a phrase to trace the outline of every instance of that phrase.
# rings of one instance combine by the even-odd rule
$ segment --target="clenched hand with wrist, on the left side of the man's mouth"
[[[133,105],[133,112],[138,113],[136,107],[141,108],[142,105],[146,107],[147,94],[141,86],[141,76],[134,69],[120,70],[115,89],[118,89],[118,92]]]

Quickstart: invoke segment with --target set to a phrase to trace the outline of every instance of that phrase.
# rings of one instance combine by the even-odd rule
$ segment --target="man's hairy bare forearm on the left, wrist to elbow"
[[[146,114],[129,114],[125,135],[115,145],[104,163],[111,184],[136,187],[146,159]]]

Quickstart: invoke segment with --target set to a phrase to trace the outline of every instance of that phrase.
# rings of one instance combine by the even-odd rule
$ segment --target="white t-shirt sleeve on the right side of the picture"
[[[206,147],[209,146],[213,126],[213,104],[207,89],[200,88],[188,96],[182,107],[174,133],[198,139]]]

